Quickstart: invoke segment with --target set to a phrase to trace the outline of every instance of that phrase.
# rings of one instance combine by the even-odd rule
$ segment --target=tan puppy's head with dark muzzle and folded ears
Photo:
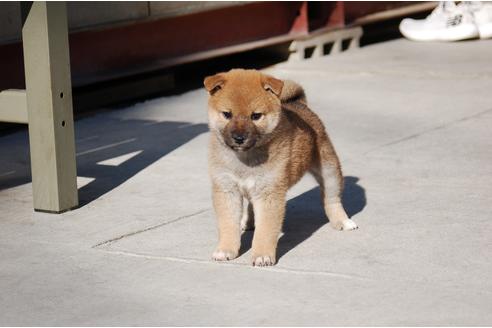
[[[262,145],[281,114],[283,82],[255,70],[234,69],[205,78],[209,126],[235,151]]]

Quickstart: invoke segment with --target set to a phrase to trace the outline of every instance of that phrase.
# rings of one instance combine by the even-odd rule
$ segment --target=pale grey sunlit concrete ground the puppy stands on
[[[492,325],[492,40],[396,40],[268,71],[302,83],[360,229],[306,177],[278,265],[210,260],[206,94],[76,122],[82,206],[32,210],[25,131],[0,138],[1,325]]]

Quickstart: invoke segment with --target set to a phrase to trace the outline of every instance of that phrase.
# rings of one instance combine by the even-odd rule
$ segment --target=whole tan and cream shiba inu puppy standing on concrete
[[[242,69],[209,76],[204,84],[210,94],[209,172],[219,229],[214,260],[236,258],[241,229],[255,227],[251,263],[275,264],[287,190],[306,172],[320,185],[331,226],[357,228],[342,206],[338,157],[299,85]]]

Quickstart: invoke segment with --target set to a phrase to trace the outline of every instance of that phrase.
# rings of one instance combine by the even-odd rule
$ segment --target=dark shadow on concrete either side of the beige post
[[[82,207],[118,187],[152,163],[207,132],[206,124],[154,122],[94,117],[76,127],[77,175],[91,181],[79,188]],[[6,139],[13,147],[0,147],[0,190],[31,182],[26,132]],[[9,143],[9,140],[4,140]],[[9,144],[11,145],[11,144]],[[8,149],[8,154],[1,154]],[[5,155],[5,156],[3,156]],[[89,180],[87,180],[89,181]]]

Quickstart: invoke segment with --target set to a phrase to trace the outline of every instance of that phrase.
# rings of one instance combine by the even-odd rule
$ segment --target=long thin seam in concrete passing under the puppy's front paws
[[[105,249],[103,249],[102,251],[105,253],[108,253],[108,254],[113,254],[113,255],[124,255],[124,256],[144,258],[144,259],[149,259],[149,260],[166,260],[166,261],[188,263],[188,264],[207,264],[207,265],[215,265],[215,266],[222,265],[222,266],[235,267],[235,268],[248,268],[248,269],[256,270],[256,271],[265,270],[265,271],[269,271],[269,272],[291,273],[291,274],[296,274],[296,275],[326,276],[326,277],[354,279],[354,280],[361,280],[361,281],[372,280],[372,279],[357,276],[357,275],[350,275],[350,274],[346,274],[346,273],[337,273],[337,272],[328,272],[328,271],[297,270],[297,269],[292,269],[292,268],[288,268],[288,267],[278,267],[278,266],[254,267],[254,266],[247,264],[247,263],[216,262],[216,261],[212,261],[212,260],[197,260],[197,259],[181,258],[181,257],[174,257],[174,256],[157,256],[157,255],[150,255],[150,254],[140,254],[140,253],[126,252],[126,251],[114,251],[114,250],[105,250]]]

